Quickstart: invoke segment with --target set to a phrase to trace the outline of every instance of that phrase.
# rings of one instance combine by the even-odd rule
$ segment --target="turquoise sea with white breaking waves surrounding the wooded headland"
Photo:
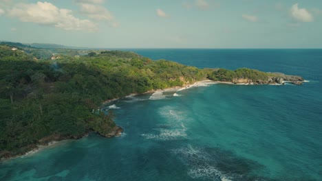
[[[125,128],[121,137],[90,134],[1,162],[0,180],[322,180],[322,50],[132,51],[200,68],[281,71],[310,82],[126,97],[111,104]]]

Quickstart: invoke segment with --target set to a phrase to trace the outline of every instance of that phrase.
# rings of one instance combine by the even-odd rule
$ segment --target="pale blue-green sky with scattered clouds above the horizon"
[[[91,48],[322,48],[321,0],[0,0],[0,40]]]

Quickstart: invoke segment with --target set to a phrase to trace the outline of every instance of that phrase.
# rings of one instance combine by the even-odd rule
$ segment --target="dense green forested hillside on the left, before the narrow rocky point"
[[[132,52],[49,51],[0,46],[0,158],[90,131],[114,136],[121,128],[112,112],[98,111],[103,101],[206,77],[195,67]]]

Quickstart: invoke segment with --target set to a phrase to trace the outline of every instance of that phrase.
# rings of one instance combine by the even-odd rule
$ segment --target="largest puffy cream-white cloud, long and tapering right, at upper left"
[[[95,31],[97,25],[87,19],[78,19],[72,15],[72,10],[59,9],[52,3],[20,3],[8,12],[23,22],[58,27],[65,30]]]

